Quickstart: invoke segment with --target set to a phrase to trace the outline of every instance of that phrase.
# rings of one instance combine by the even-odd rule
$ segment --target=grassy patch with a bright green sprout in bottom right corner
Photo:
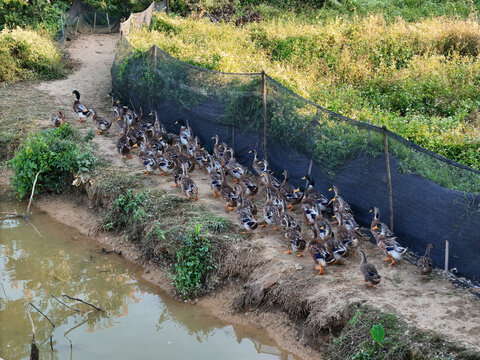
[[[478,354],[410,327],[394,314],[368,306],[350,311],[350,320],[331,338],[329,359],[478,359]]]

